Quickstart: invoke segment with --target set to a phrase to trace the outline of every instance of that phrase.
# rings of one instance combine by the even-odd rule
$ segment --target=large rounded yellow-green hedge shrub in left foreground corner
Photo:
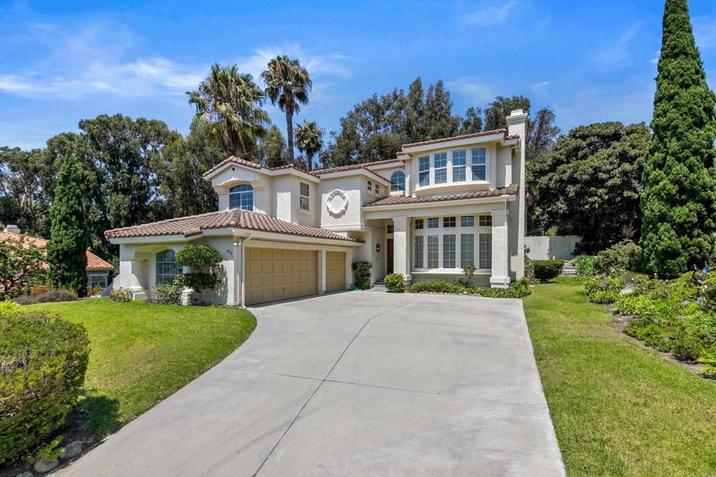
[[[0,463],[24,456],[64,424],[89,358],[84,326],[47,313],[0,315]]]

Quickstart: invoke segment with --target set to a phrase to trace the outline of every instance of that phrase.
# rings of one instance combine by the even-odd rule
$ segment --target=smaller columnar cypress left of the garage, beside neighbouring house
[[[49,279],[56,287],[87,295],[87,224],[84,220],[82,165],[67,154],[57,177],[52,216],[51,240],[47,244]]]

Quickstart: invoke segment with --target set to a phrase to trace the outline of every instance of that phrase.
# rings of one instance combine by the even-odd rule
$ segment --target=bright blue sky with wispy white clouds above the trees
[[[279,53],[314,79],[326,132],[373,93],[442,79],[455,113],[524,94],[578,124],[649,121],[663,1],[0,1],[0,146],[42,147],[117,112],[186,133],[211,64],[255,77]],[[691,0],[716,88],[716,0]],[[282,130],[282,113],[267,107]],[[285,133],[285,131],[284,131]]]

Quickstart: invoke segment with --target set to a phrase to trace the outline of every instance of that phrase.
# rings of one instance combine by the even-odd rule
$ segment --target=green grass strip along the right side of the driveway
[[[568,476],[716,476],[716,383],[619,332],[559,278],[524,299]]]

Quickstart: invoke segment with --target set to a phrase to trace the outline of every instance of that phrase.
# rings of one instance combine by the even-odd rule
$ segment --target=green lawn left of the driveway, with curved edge
[[[145,412],[238,348],[256,318],[233,308],[178,307],[107,299],[42,303],[89,335],[85,393],[71,431],[106,435]]]

